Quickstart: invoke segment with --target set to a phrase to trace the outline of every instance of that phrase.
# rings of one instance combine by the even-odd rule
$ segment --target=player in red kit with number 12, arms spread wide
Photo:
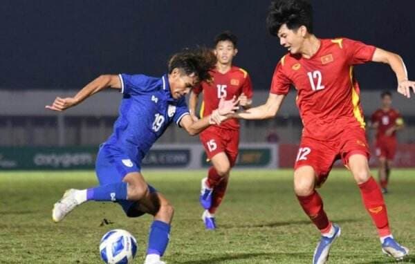
[[[265,104],[238,113],[248,120],[274,117],[291,85],[304,124],[294,171],[299,204],[322,237],[313,263],[326,263],[340,227],[331,223],[316,187],[326,180],[333,162],[342,159],[360,189],[363,203],[378,229],[382,251],[396,259],[409,250],[391,235],[380,187],[369,171],[369,148],[353,66],[365,62],[389,64],[398,82],[398,93],[410,97],[415,82],[408,80],[400,56],[346,38],[319,39],[313,34],[313,8],[305,0],[274,0],[267,24],[270,33],[288,50],[275,68]]]

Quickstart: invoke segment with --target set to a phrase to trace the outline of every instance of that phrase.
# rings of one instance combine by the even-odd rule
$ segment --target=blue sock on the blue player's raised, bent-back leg
[[[86,200],[127,200],[127,182],[117,182],[111,185],[101,185],[86,190]]]

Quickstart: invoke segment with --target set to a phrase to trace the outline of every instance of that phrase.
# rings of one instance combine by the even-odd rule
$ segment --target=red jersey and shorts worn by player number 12
[[[376,47],[351,39],[320,39],[313,57],[288,53],[277,64],[270,93],[286,95],[293,84],[304,124],[295,169],[313,167],[318,184],[335,160],[345,165],[353,153],[369,158],[360,90],[353,65],[371,61]]]

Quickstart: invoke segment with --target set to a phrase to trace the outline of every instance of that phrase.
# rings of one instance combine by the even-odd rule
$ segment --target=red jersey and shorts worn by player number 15
[[[200,86],[193,89],[196,94],[203,92],[201,117],[210,115],[214,109],[217,109],[221,97],[230,100],[244,93],[248,99],[252,98],[252,83],[246,70],[232,66],[227,73],[219,73],[215,69],[210,74],[213,77],[211,83],[202,82]],[[233,166],[238,155],[239,120],[232,118],[225,120],[219,126],[212,125],[200,133],[200,139],[209,159],[217,153],[225,152]]]

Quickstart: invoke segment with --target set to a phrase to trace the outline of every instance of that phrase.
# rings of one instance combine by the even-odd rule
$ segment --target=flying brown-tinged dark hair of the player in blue
[[[216,56],[208,48],[194,48],[174,54],[168,63],[169,73],[175,68],[183,70],[185,75],[196,75],[199,82],[210,81],[209,71],[216,66]]]

